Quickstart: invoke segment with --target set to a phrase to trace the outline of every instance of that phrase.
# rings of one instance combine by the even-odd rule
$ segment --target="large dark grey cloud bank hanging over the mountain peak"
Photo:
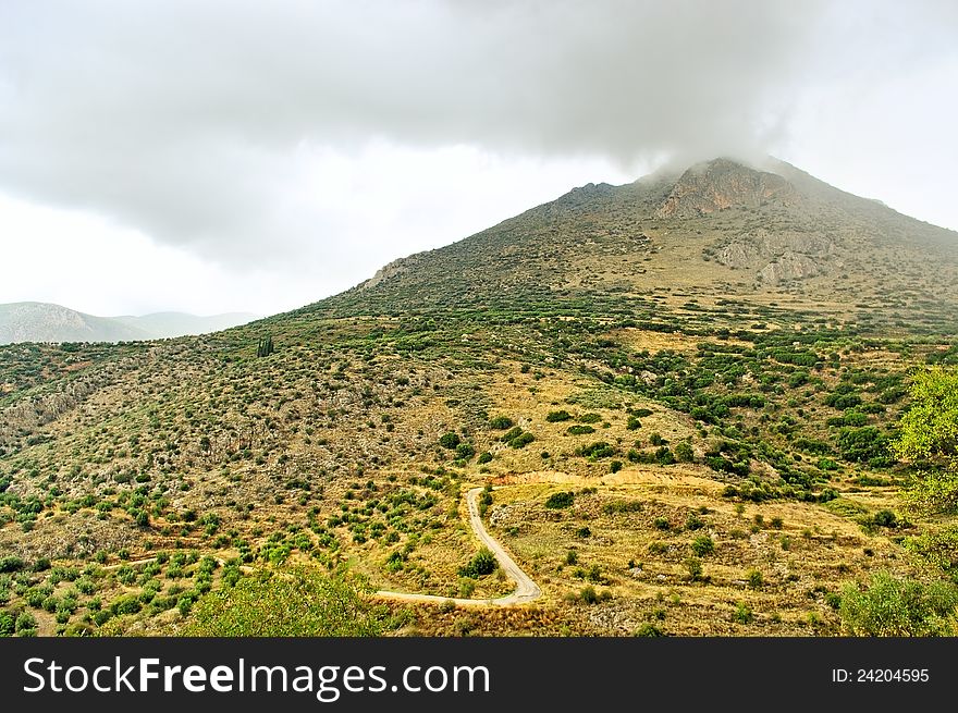
[[[761,152],[826,16],[819,0],[9,3],[0,189],[287,261],[333,228],[283,214],[297,147]]]

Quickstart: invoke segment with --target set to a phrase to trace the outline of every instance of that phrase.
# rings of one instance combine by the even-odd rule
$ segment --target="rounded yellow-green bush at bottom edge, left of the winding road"
[[[297,567],[261,570],[193,607],[184,636],[379,636],[379,613],[341,577]]]

